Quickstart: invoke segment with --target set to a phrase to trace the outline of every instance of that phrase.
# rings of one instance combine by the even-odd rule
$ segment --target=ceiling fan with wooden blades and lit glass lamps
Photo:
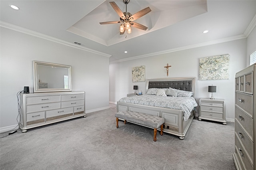
[[[133,22],[134,20],[137,20],[138,18],[148,14],[148,12],[151,11],[149,7],[140,10],[139,12],[135,14],[131,14],[130,12],[127,12],[127,4],[130,2],[130,0],[123,0],[124,4],[126,5],[126,12],[122,12],[120,8],[116,5],[115,2],[109,2],[110,5],[114,8],[118,16],[120,16],[120,21],[109,21],[109,22],[100,22],[100,24],[118,24],[121,23],[120,25],[120,35],[124,34],[126,31],[128,34],[132,33],[132,28],[131,26],[141,29],[141,30],[147,30],[148,27],[139,24],[137,22]]]

